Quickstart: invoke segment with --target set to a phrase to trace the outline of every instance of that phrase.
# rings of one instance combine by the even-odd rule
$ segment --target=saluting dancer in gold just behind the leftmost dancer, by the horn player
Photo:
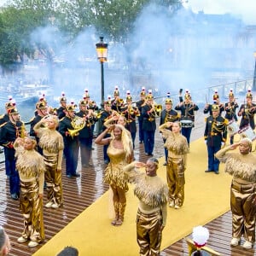
[[[45,207],[47,208],[59,208],[63,204],[61,162],[64,143],[63,137],[56,131],[58,124],[58,118],[55,115],[49,115],[34,126],[34,131],[39,137],[39,146],[43,148],[46,168],[44,178],[48,199]]]

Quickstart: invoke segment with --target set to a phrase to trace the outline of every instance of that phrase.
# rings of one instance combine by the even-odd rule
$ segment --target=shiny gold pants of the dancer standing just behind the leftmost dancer
[[[63,191],[61,182],[61,172],[57,172],[57,155],[44,155],[44,165],[46,172],[44,179],[47,187],[47,199],[61,206],[63,204]]]

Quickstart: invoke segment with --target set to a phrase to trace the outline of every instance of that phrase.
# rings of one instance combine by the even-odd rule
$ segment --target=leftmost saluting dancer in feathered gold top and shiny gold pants
[[[24,230],[18,242],[36,247],[44,240],[43,196],[44,158],[34,148],[36,140],[30,137],[16,139],[16,168],[20,174],[20,211],[24,218]]]

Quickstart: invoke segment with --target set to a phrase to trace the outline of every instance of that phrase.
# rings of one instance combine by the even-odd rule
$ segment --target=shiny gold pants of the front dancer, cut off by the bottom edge
[[[160,255],[162,220],[160,211],[151,214],[137,211],[137,243],[140,247],[141,256]]]

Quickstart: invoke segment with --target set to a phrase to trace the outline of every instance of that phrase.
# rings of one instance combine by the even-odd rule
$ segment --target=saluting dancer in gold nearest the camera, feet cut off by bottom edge
[[[125,172],[131,177],[131,182],[135,183],[134,194],[139,199],[137,243],[141,256],[160,255],[162,230],[166,225],[168,187],[157,176],[158,166],[156,158],[148,159],[146,164],[135,161],[125,166]],[[135,169],[142,167],[146,172]]]

